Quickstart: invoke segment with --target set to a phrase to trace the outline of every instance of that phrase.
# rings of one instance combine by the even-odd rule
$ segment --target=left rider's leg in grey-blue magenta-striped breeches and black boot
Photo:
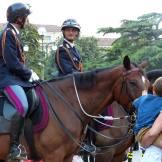
[[[11,147],[9,152],[9,159],[25,159],[26,155],[19,146],[19,136],[24,126],[24,117],[28,110],[27,97],[24,89],[20,86],[8,86],[4,89],[4,93],[8,100],[15,106],[17,113],[12,119],[11,125]]]

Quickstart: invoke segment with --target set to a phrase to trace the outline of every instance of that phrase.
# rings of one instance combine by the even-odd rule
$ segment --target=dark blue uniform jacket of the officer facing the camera
[[[71,47],[65,40],[57,49],[55,62],[59,76],[82,71],[82,59],[80,53],[75,47]]]

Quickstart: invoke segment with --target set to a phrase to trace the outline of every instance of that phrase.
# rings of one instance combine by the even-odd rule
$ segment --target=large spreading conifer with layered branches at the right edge
[[[112,55],[120,58],[128,54],[136,62],[149,58],[150,68],[159,68],[162,62],[162,29],[159,28],[161,22],[161,13],[149,13],[137,20],[123,20],[119,28],[101,28],[99,32],[121,35],[113,43]]]

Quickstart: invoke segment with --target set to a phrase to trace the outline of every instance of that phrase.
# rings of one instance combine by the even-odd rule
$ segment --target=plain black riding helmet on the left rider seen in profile
[[[23,3],[14,3],[7,9],[7,21],[15,23],[19,17],[27,17],[31,11],[28,5]]]

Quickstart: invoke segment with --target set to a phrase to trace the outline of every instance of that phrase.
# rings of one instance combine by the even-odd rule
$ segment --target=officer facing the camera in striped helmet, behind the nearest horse
[[[74,45],[74,41],[79,37],[80,25],[74,19],[67,19],[63,22],[61,31],[64,40],[57,49],[55,57],[58,75],[64,76],[73,72],[81,72],[82,59]]]

